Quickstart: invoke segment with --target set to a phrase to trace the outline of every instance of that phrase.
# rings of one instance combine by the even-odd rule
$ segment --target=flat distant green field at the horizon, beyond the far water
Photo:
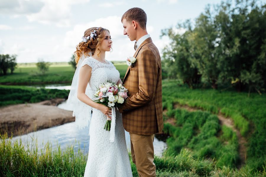
[[[120,78],[123,79],[126,73],[127,65],[117,64],[116,69],[120,73]],[[60,65],[53,64],[49,67],[45,75],[41,75],[38,68],[34,65],[21,65],[15,69],[13,74],[8,73],[5,76],[0,76],[0,84],[9,85],[30,85],[41,83],[70,83],[74,76],[75,69],[67,63]]]

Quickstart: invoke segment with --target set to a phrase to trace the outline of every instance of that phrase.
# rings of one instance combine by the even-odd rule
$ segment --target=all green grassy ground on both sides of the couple
[[[127,65],[117,64],[123,79]],[[20,72],[21,71],[21,72]],[[20,66],[14,75],[1,76],[1,83],[71,83],[74,68],[52,65],[46,75],[33,66]],[[17,76],[17,77],[16,77]],[[52,98],[67,98],[69,90],[36,89],[27,86],[0,85],[0,106],[34,103]],[[189,112],[186,105],[197,111]],[[168,148],[162,158],[156,157],[157,176],[263,176],[265,175],[266,96],[246,92],[213,89],[189,89],[179,80],[163,80],[163,132]],[[245,162],[239,157],[239,141],[232,128],[221,125],[217,117],[233,120],[247,144]],[[169,120],[174,120],[169,122]],[[37,153],[37,149],[12,146],[2,136],[0,176],[80,176],[86,156],[70,147],[66,152]],[[9,142],[11,143],[11,142]],[[17,154],[17,155],[14,155]],[[30,165],[29,165],[30,164]],[[31,165],[33,164],[33,165]],[[132,171],[137,171],[132,163]],[[243,165],[244,164],[244,165]],[[259,171],[257,171],[259,170]]]

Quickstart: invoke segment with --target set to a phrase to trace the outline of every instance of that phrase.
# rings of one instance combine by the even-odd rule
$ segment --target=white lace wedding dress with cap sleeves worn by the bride
[[[109,61],[105,64],[87,57],[83,60],[81,67],[84,65],[92,68],[91,78],[85,92],[91,99],[100,83],[119,81],[119,71]],[[87,108],[91,109],[90,106]],[[106,115],[98,109],[92,108],[92,110],[89,155],[84,177],[132,177],[121,113],[114,109],[116,110],[114,141],[110,142],[110,131],[104,129]]]

